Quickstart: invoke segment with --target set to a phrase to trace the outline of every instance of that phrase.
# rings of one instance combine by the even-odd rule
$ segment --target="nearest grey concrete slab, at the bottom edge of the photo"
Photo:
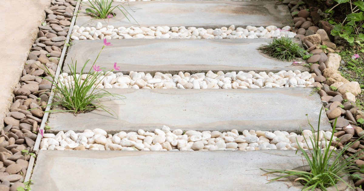
[[[296,151],[47,151],[31,177],[36,191],[300,191],[259,168],[303,165]],[[267,160],[268,159],[268,160]],[[305,163],[307,163],[304,160]]]

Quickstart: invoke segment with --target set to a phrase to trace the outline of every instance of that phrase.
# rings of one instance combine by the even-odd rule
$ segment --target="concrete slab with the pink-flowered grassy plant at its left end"
[[[312,88],[261,89],[107,89],[126,99],[101,101],[118,115],[94,110],[74,116],[52,112],[50,132],[102,128],[113,134],[139,129],[154,131],[169,126],[171,130],[198,131],[262,130],[300,132],[317,129],[322,107]],[[99,109],[100,110],[100,109]],[[114,113],[113,113],[114,114]],[[115,115],[115,114],[114,114]],[[321,116],[320,130],[332,130],[326,115]]]

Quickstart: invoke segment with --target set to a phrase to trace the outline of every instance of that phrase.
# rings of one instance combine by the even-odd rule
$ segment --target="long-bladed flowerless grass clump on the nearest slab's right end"
[[[287,180],[292,180],[293,178],[290,178],[288,176],[294,176],[294,177],[296,177],[296,178],[294,178],[294,182],[298,181],[304,185],[304,187],[302,188],[302,191],[306,191],[306,190],[310,190],[310,189],[314,190],[314,188],[321,188],[322,190],[327,191],[326,188],[330,187],[330,186],[335,186],[336,190],[338,190],[336,183],[339,180],[343,181],[345,184],[347,184],[347,186],[351,187],[348,183],[346,183],[343,180],[344,176],[352,176],[352,177],[356,176],[357,178],[359,178],[359,175],[353,175],[350,173],[358,172],[360,170],[354,170],[354,168],[348,168],[348,166],[355,166],[355,167],[359,167],[361,169],[364,168],[363,165],[358,166],[355,163],[353,163],[354,160],[357,160],[362,157],[362,155],[359,155],[360,152],[356,152],[355,154],[348,156],[347,158],[343,158],[343,155],[345,155],[346,152],[352,150],[352,148],[349,148],[349,147],[351,147],[357,140],[355,142],[350,142],[349,144],[345,145],[344,148],[341,149],[339,152],[329,149],[329,146],[331,146],[331,142],[333,139],[333,133],[331,134],[331,139],[329,141],[329,144],[327,144],[327,145],[321,144],[321,142],[318,139],[318,135],[320,134],[321,111],[320,111],[320,115],[318,118],[317,134],[316,135],[311,134],[309,136],[310,142],[308,142],[308,140],[306,140],[306,138],[304,136],[305,142],[311,143],[313,149],[309,150],[309,153],[308,153],[303,148],[301,148],[301,146],[298,144],[298,147],[300,148],[302,155],[307,160],[311,171],[307,172],[307,171],[296,171],[296,170],[274,170],[274,169],[261,168],[261,170],[270,171],[270,172],[265,173],[264,175],[272,174],[272,173],[285,174],[278,178],[269,180],[268,183],[276,181],[281,178],[286,178],[286,177],[289,178]],[[308,118],[307,118],[307,120],[308,120]],[[312,125],[310,124],[309,120],[308,120],[308,124],[311,126],[312,132],[314,132],[314,129],[313,129]],[[336,119],[335,119],[334,126],[333,126],[333,132],[335,131],[335,126],[336,126]],[[301,132],[302,132],[302,129],[301,129]],[[363,136],[361,138],[363,138]],[[297,141],[297,138],[296,138],[296,141]],[[324,147],[323,150],[321,150],[322,147]],[[297,154],[297,151],[296,151],[296,154]],[[354,189],[354,188],[352,188],[352,189]]]

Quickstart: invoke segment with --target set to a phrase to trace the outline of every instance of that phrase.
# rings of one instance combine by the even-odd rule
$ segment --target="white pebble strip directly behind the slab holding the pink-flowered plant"
[[[80,83],[83,83],[89,74],[81,76]],[[78,78],[79,75],[76,74]],[[208,71],[205,73],[190,73],[179,72],[178,75],[171,75],[170,73],[163,74],[155,72],[152,76],[150,73],[133,72],[129,75],[123,73],[105,72],[104,75],[96,80],[93,87],[96,88],[135,88],[135,89],[153,89],[153,88],[178,88],[178,89],[230,89],[230,88],[284,88],[284,87],[313,87],[315,73],[302,72],[299,70],[285,71],[282,70],[278,73],[250,71],[245,72],[227,72],[219,71],[213,73]],[[59,75],[59,84],[62,83],[66,87],[74,85],[75,80],[73,76],[68,73]]]

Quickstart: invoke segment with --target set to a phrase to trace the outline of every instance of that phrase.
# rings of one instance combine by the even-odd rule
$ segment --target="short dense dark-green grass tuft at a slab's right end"
[[[293,43],[292,38],[281,37],[273,39],[268,45],[261,45],[259,48],[263,53],[280,60],[291,61],[296,57],[303,57],[304,49],[297,43]]]

